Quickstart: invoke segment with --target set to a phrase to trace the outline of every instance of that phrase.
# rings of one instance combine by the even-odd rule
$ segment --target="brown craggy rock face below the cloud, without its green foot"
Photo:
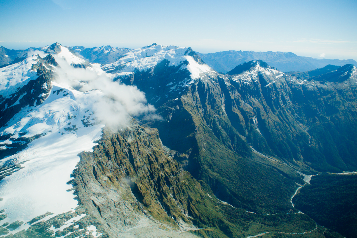
[[[80,156],[77,193],[107,228],[125,230],[146,219],[162,221],[157,227],[180,229],[181,223],[192,223],[187,204],[191,196],[209,198],[167,157],[155,129],[134,124],[116,134],[105,132],[93,153]]]

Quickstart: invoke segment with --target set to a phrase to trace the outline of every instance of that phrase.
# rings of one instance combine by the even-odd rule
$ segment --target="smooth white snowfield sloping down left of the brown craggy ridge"
[[[53,85],[44,103],[26,108],[27,113],[16,115],[14,124],[3,130],[14,134],[14,138],[20,132],[26,132],[25,137],[41,134],[25,150],[0,162],[2,166],[24,162],[22,169],[0,182],[0,197],[4,199],[0,209],[8,214],[1,222],[25,221],[15,231],[26,228],[27,221],[46,212],[56,215],[77,207],[73,191],[67,192],[72,188],[67,182],[79,162],[77,154],[92,151],[104,127],[85,127],[81,121],[93,118],[91,107],[99,91],[83,93],[64,88],[57,95],[62,87],[55,82]],[[70,94],[64,97],[66,92]]]

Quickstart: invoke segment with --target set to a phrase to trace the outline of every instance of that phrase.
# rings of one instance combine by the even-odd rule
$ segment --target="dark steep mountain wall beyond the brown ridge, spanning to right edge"
[[[141,123],[158,128],[163,144],[177,151],[175,158],[218,198],[255,212],[288,211],[293,181],[302,183],[294,170],[311,174],[356,168],[349,156],[356,145],[354,66],[308,81],[263,61],[246,63],[238,74],[201,71],[198,77],[188,65],[163,60],[152,69],[121,73],[117,80],[146,93],[163,120],[141,118]],[[341,105],[336,94],[353,102]],[[342,140],[352,146],[344,147]],[[257,152],[270,157],[262,162],[267,167],[253,162]]]

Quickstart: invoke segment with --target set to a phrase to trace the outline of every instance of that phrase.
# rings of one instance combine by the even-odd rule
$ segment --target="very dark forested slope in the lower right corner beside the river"
[[[357,234],[357,175],[320,174],[292,201],[318,224],[346,238]]]

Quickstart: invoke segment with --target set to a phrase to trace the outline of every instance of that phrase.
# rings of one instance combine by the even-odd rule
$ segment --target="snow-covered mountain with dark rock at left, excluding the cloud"
[[[6,208],[4,222],[22,221],[20,230],[28,228],[26,222],[32,218],[47,212],[56,216],[77,207],[75,196],[66,191],[72,187],[67,182],[79,162],[77,154],[92,150],[104,126],[93,116],[100,91],[80,92],[60,80],[52,81],[61,69],[55,59],[68,65],[84,62],[67,48],[57,48],[54,57],[38,51],[1,72],[1,105],[6,102],[1,119],[9,108],[18,106],[10,120],[2,120],[1,153],[6,157],[2,156],[1,164],[21,164],[19,171],[2,180],[1,207]],[[33,85],[41,77],[46,81]],[[8,155],[7,150],[15,153]]]

